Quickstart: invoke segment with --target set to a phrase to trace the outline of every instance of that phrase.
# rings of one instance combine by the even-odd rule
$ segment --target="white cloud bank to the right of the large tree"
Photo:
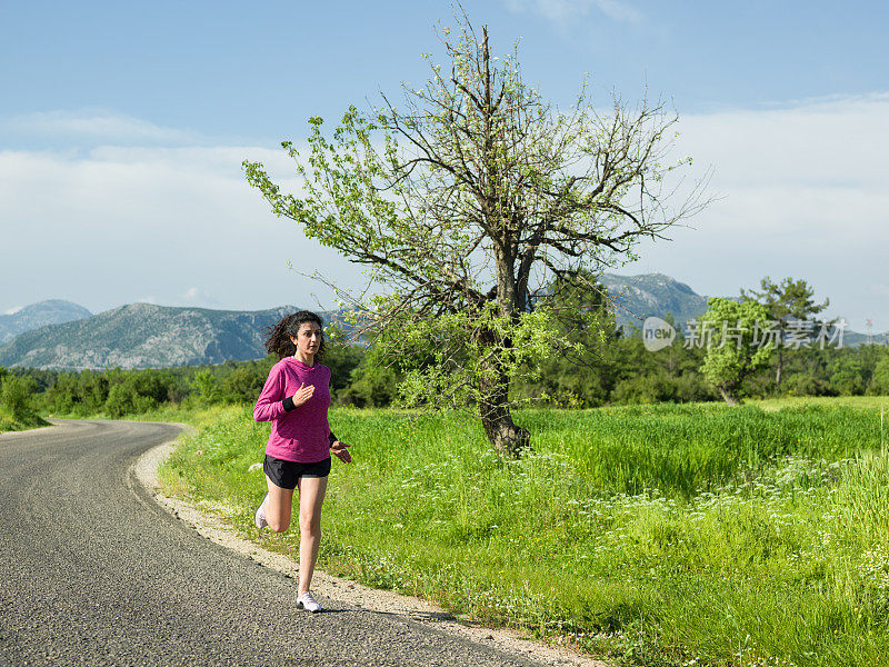
[[[889,94],[805,100],[680,120],[677,153],[712,165],[725,198],[647,243],[623,272],[662,271],[707,295],[737,295],[765,276],[805,278],[852,328],[889,329]]]

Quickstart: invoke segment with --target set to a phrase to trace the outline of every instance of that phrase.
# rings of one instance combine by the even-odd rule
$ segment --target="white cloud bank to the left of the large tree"
[[[94,312],[137,300],[257,309],[313,303],[314,292],[332,302],[287,262],[350,282],[359,271],[271,215],[244,158],[297,188],[290,159],[263,147],[0,151],[0,283],[19,286],[0,308],[67,298]],[[224,296],[189,300],[183,285]]]

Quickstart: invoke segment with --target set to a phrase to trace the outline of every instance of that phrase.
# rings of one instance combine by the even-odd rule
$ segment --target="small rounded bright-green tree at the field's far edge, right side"
[[[757,327],[767,319],[768,311],[761,303],[713,297],[698,320],[708,346],[701,371],[729,404],[738,401],[745,378],[769,360],[771,344],[753,340]]]

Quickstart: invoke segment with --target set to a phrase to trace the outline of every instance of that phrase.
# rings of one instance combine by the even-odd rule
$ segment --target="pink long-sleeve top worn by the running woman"
[[[314,386],[312,397],[292,407],[300,385]],[[296,357],[284,357],[272,366],[253,408],[253,419],[271,421],[266,454],[287,461],[313,464],[330,456],[330,369],[314,362],[307,366]],[[289,409],[288,409],[289,408]]]

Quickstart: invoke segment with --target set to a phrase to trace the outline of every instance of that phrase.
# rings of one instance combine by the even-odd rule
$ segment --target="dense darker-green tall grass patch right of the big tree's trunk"
[[[567,455],[597,487],[631,495],[690,497],[791,454],[836,460],[880,445],[875,421],[838,406],[787,407],[779,417],[720,404],[540,410],[522,424],[540,434],[539,449]]]

